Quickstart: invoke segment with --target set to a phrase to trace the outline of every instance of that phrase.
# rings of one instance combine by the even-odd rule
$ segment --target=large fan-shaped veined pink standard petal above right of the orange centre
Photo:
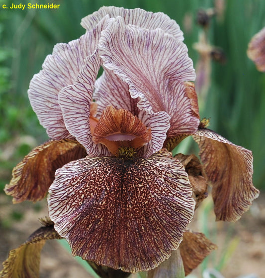
[[[168,112],[170,80],[194,80],[186,46],[161,29],[146,30],[125,25],[117,17],[102,31],[99,55],[103,65],[129,85],[138,107]]]

